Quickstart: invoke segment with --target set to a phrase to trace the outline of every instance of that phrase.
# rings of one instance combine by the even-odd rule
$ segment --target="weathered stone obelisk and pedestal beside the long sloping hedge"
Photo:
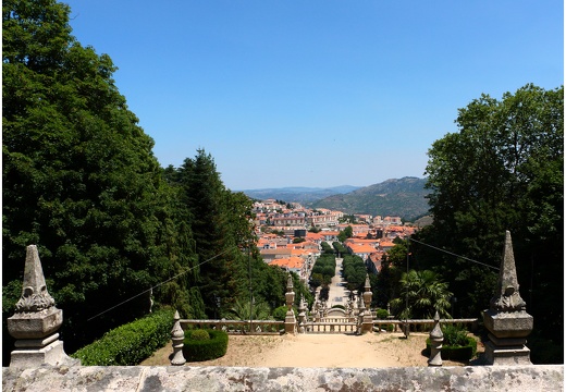
[[[36,245],[26,249],[22,297],[15,304],[15,315],[8,318],[8,332],[16,339],[10,367],[40,365],[79,366],[69,357],[57,331],[63,323],[63,310],[48,293]]]

